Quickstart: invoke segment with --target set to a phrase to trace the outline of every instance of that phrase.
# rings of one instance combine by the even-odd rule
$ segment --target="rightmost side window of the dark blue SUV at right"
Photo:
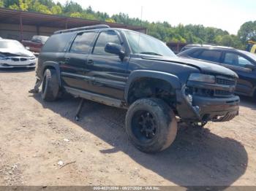
[[[246,58],[233,52],[225,53],[225,58],[223,63],[233,65],[233,66],[241,66],[241,67],[244,67],[246,64],[252,64]]]

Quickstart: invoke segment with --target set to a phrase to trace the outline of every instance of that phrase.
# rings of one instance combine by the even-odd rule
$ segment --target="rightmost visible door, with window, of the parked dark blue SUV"
[[[238,74],[238,84],[236,85],[236,92],[249,95],[255,87],[256,71],[246,68],[246,64],[252,64],[252,61],[246,56],[238,52],[225,51],[222,58],[222,66],[231,69]]]

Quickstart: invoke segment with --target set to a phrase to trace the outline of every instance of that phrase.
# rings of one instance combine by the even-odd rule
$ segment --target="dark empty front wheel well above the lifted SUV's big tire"
[[[169,82],[163,79],[143,77],[132,82],[128,91],[128,104],[132,104],[139,98],[161,98],[169,106],[175,108],[175,90]]]

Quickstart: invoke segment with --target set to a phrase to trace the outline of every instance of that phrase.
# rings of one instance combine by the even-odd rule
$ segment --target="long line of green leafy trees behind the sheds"
[[[241,49],[245,46],[247,40],[256,40],[256,20],[244,23],[238,31],[238,35],[230,35],[222,29],[204,27],[202,25],[184,26],[179,24],[178,26],[171,26],[167,22],[150,23],[146,20],[129,17],[124,13],[110,16],[106,12],[95,12],[91,7],[83,9],[80,4],[74,1],[66,1],[65,4],[60,4],[59,2],[55,3],[53,0],[0,0],[0,7],[144,26],[148,29],[149,35],[164,42],[218,44]]]

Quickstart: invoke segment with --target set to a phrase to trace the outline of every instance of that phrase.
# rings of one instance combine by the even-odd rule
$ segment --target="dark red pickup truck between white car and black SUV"
[[[23,40],[21,43],[27,47],[31,52],[40,52],[42,46],[45,44],[49,36],[33,36],[32,39]]]

